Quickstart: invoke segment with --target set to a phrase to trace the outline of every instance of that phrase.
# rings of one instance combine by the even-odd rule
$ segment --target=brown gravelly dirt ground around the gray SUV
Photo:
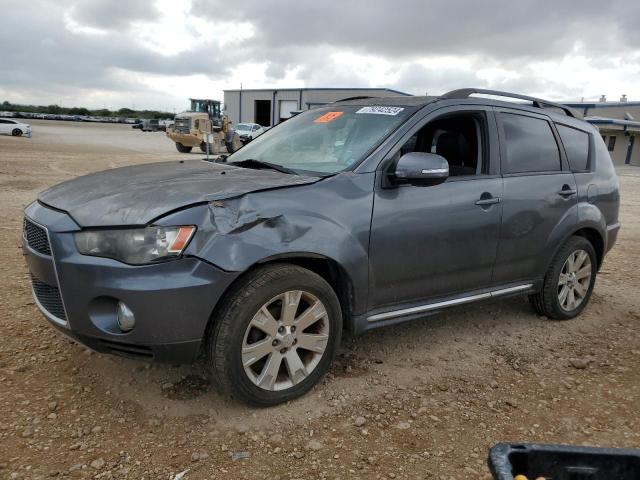
[[[482,479],[501,441],[640,447],[640,169],[619,170],[623,228],[580,318],[514,298],[347,336],[310,394],[252,409],[200,365],[61,337],[20,250],[22,209],[47,186],[202,154],[129,126],[32,124],[31,139],[0,137],[1,479]]]

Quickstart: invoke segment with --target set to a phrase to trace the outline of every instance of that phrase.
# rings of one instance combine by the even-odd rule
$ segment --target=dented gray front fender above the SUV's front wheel
[[[185,254],[228,272],[278,257],[330,259],[349,276],[358,313],[366,308],[368,294],[373,178],[344,173],[310,185],[253,192],[190,208],[163,223],[198,225]]]

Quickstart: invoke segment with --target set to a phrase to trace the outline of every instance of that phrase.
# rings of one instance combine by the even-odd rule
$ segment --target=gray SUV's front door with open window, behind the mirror
[[[502,211],[493,113],[438,110],[409,132],[409,151],[442,155],[450,177],[435,186],[376,188],[370,243],[370,308],[419,304],[489,287]],[[385,175],[383,169],[380,175]]]

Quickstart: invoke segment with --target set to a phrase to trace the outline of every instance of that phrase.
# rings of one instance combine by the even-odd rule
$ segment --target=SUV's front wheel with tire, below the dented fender
[[[331,286],[287,264],[249,273],[213,321],[208,359],[214,381],[257,406],[308,392],[329,370],[342,333],[340,303]]]

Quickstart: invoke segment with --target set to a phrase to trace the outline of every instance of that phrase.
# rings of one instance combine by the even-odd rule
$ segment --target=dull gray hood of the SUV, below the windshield
[[[91,173],[45,190],[38,200],[67,212],[81,227],[146,225],[163,214],[196,203],[318,180],[188,160]]]

